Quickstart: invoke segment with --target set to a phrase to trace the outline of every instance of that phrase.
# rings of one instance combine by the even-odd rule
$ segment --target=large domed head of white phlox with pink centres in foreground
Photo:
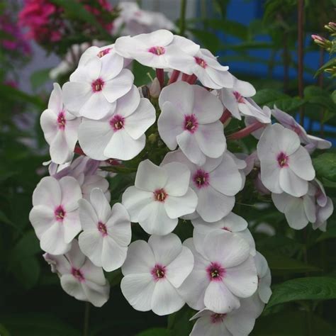
[[[150,88],[133,84],[133,60],[156,69]],[[121,291],[136,310],[167,315],[186,303],[199,310],[191,335],[252,331],[271,273],[235,213],[246,179],[258,180],[292,228],[325,230],[332,213],[310,158],[330,144],[276,107],[257,106],[254,93],[211,52],[168,30],[91,47],[69,82],[55,84],[41,116],[50,177],[34,191],[30,221],[69,295],[103,305],[103,271],[121,268]],[[232,118],[247,126],[228,136]],[[228,150],[250,134],[255,152]],[[115,173],[125,188],[111,196]],[[131,223],[144,240],[132,239]],[[182,242],[187,225],[193,234]]]

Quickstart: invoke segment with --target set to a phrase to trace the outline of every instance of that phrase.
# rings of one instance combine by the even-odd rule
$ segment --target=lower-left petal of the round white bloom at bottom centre
[[[128,274],[121,280],[121,291],[135,310],[151,310],[155,281],[150,273]]]

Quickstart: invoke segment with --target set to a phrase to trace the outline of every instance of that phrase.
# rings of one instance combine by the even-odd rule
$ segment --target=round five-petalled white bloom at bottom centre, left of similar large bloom
[[[130,244],[121,267],[121,291],[136,310],[172,314],[184,306],[177,289],[193,267],[193,254],[177,235],[152,235],[148,243],[137,240]]]

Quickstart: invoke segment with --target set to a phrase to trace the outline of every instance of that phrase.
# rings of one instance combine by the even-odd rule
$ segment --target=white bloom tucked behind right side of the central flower
[[[235,194],[242,186],[242,175],[228,152],[218,159],[208,158],[198,166],[190,162],[181,150],[176,150],[169,152],[162,164],[169,162],[181,162],[189,167],[189,186],[198,197],[196,216],[200,215],[206,222],[215,222],[230,213],[235,206]]]

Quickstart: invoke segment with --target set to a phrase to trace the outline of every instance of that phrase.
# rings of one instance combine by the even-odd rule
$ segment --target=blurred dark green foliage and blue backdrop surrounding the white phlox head
[[[310,35],[330,38],[331,33],[324,26],[335,19],[336,1],[304,1],[303,52],[305,57],[313,52],[313,58],[310,62],[305,58],[303,63],[303,95],[298,90],[297,0],[189,0],[181,1],[181,12],[194,1],[196,15],[182,15],[176,22],[175,33],[194,38],[218,55],[222,64],[229,65],[233,74],[252,82],[257,89],[254,100],[260,106],[273,107],[275,103],[296,118],[301,111],[308,133],[332,140],[335,145],[335,43],[326,50],[313,43]],[[38,41],[46,52],[65,57],[74,43],[103,40],[108,44],[115,40],[106,25],[118,16],[118,8],[111,11],[107,7],[98,19],[96,11],[88,6],[101,9],[99,0],[50,3],[61,12],[66,29],[60,41]],[[260,17],[245,20],[244,11],[255,3],[262,5]],[[67,296],[57,276],[45,264],[28,213],[33,189],[47,174],[42,162],[49,157],[39,117],[50,92],[45,90],[45,84],[51,82],[50,69],[31,75],[34,94],[19,89],[17,82],[23,66],[34,57],[26,35],[16,26],[20,9],[20,2],[0,4],[0,335],[83,335],[84,316],[89,316],[86,335],[91,336],[189,335],[189,318],[193,315],[190,308],[185,306],[168,318],[133,310],[121,294],[120,271],[107,274],[111,298],[103,308],[94,308]],[[136,64],[133,71],[137,85],[150,82],[148,69]],[[68,75],[58,78],[60,84]],[[242,123],[233,121],[225,133],[229,135],[242,127]],[[248,152],[255,145],[251,137],[230,142],[229,150]],[[315,152],[313,162],[335,204],[335,149]],[[111,179],[111,193],[120,195],[130,179],[133,177],[125,174]],[[237,196],[234,212],[243,213],[249,221],[257,250],[267,258],[272,274],[274,294],[252,335],[335,335],[335,215],[328,221],[326,233],[314,231],[310,225],[294,231],[270,199],[254,191],[250,178]],[[265,224],[267,230],[263,229]],[[182,239],[190,237],[191,223],[181,221],[177,230]],[[133,240],[138,237],[144,238],[144,233],[135,228]]]

